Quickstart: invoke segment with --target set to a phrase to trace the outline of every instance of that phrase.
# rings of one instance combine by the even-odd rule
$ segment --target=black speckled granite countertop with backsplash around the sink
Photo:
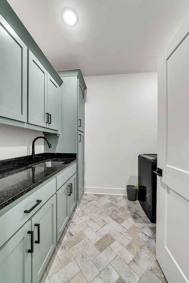
[[[48,159],[64,163],[55,167],[32,167],[31,155],[0,160],[0,210],[77,160],[74,153],[43,153],[36,155],[35,164]]]

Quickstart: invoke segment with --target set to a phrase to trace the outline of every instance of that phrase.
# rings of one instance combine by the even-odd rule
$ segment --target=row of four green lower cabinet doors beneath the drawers
[[[76,185],[75,173],[0,248],[0,282],[40,281],[56,243],[76,206]]]

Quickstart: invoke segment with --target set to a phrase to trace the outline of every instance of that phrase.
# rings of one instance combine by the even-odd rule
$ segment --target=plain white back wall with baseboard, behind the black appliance
[[[84,80],[85,192],[125,194],[138,183],[138,155],[157,153],[157,73]]]

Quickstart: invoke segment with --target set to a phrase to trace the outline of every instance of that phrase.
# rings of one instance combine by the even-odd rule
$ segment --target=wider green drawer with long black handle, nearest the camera
[[[3,231],[0,235],[0,247],[56,192],[56,179],[46,183],[34,193],[21,200],[14,207],[10,208],[0,216],[0,227]],[[34,205],[39,204],[30,210]]]

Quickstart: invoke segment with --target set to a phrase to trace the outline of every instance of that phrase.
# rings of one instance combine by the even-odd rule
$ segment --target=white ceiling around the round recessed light
[[[188,0],[8,0],[56,70],[84,76],[151,72],[189,16]],[[65,7],[79,22],[66,26]]]

